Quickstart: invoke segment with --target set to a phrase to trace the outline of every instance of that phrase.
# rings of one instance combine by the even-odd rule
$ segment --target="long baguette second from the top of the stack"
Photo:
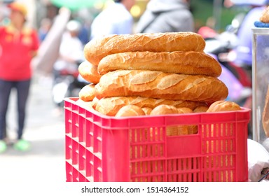
[[[191,75],[221,75],[221,65],[205,52],[122,52],[104,57],[98,73],[104,75],[118,69],[142,69]]]

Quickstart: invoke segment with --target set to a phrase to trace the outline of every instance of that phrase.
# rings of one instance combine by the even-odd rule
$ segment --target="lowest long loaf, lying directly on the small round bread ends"
[[[96,98],[95,98],[96,99]],[[94,100],[95,100],[94,99]],[[154,99],[149,97],[104,97],[97,101],[94,108],[99,113],[103,113],[107,116],[115,116],[120,108],[126,105],[135,105],[141,108],[154,109],[161,104],[180,107],[188,107],[189,109],[195,109],[197,106],[206,106],[205,102],[191,102],[184,100],[167,100],[167,99]]]

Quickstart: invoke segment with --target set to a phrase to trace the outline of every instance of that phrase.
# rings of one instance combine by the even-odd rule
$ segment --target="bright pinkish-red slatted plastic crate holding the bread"
[[[247,181],[250,110],[116,118],[65,99],[67,181]],[[171,126],[197,134],[167,136]]]

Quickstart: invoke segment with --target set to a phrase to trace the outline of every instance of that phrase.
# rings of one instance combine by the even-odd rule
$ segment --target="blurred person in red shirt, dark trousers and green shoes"
[[[39,37],[34,29],[25,27],[27,8],[14,2],[10,24],[0,27],[0,153],[6,151],[6,113],[11,90],[17,91],[18,137],[14,148],[27,151],[28,141],[22,139],[25,128],[26,104],[32,78],[31,60],[39,48]]]

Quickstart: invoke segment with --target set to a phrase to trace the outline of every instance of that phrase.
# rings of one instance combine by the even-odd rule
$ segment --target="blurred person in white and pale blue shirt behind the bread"
[[[132,34],[133,18],[130,9],[135,0],[114,0],[92,21],[90,39],[106,34]]]

